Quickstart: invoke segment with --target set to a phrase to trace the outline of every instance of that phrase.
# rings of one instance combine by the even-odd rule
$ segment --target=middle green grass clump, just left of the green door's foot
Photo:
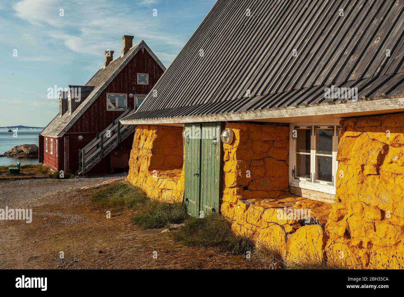
[[[170,223],[179,224],[187,218],[182,203],[168,203],[156,200],[147,200],[132,217],[132,223],[142,229],[157,229]]]

